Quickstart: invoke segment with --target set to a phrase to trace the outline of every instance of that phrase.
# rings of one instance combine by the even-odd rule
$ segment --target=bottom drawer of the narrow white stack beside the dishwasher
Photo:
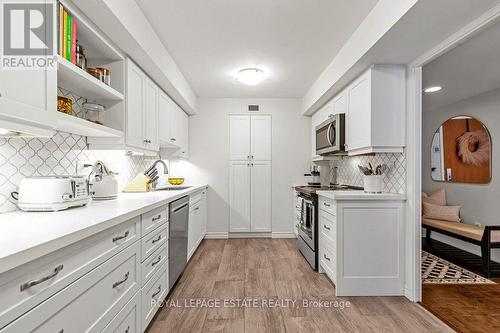
[[[163,265],[142,288],[142,330],[145,331],[168,294],[168,265]]]

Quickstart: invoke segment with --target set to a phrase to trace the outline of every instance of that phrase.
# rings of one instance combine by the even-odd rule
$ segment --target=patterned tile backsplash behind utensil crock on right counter
[[[332,177],[339,184],[363,186],[363,174],[358,165],[386,164],[389,171],[384,175],[384,192],[406,193],[406,154],[377,154],[375,156],[341,157],[330,163]],[[336,167],[336,168],[335,168]]]

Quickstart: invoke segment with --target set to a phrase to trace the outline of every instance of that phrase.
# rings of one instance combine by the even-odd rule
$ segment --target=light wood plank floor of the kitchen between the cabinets
[[[452,332],[403,297],[336,298],[293,239],[204,240],[148,332]],[[293,308],[184,307],[189,299],[293,299]],[[350,308],[304,308],[302,300]]]

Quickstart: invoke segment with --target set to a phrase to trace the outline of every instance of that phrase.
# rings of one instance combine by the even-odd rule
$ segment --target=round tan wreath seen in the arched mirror
[[[457,147],[458,157],[465,164],[479,166],[490,158],[490,138],[484,130],[465,132],[457,138]]]

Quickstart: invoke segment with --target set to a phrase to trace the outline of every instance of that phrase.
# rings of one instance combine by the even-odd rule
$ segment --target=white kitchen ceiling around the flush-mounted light
[[[303,97],[377,0],[136,0],[199,97]],[[235,71],[269,78],[245,86]]]

